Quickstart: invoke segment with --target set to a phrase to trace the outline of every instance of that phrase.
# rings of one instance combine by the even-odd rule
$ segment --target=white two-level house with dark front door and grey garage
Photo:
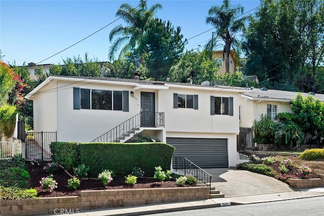
[[[126,142],[141,133],[175,146],[175,156],[204,168],[241,162],[236,151],[238,107],[240,94],[247,91],[139,79],[50,76],[26,98],[33,100],[35,132],[57,131],[57,140],[66,142]]]

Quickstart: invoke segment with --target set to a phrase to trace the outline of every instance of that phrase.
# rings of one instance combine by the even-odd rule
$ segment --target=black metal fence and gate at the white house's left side
[[[51,159],[50,144],[56,141],[56,132],[26,132],[25,158]]]

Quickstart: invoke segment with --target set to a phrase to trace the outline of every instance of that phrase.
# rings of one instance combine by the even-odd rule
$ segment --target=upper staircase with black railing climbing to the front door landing
[[[91,143],[125,143],[127,140],[131,139],[136,134],[141,133],[142,131],[144,131],[144,129],[147,129],[148,125],[145,125],[145,123],[142,122],[145,121],[145,119],[143,120],[143,115],[154,117],[154,121],[151,121],[154,123],[154,125],[149,125],[150,127],[164,126],[164,112],[140,112],[134,115],[133,117],[127,119],[123,123],[110,129],[110,131],[94,139],[93,141],[91,141]]]

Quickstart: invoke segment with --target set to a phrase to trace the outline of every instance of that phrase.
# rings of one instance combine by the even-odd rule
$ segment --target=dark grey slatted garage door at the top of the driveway
[[[167,143],[176,148],[174,156],[185,157],[200,168],[228,167],[227,139],[169,137]]]

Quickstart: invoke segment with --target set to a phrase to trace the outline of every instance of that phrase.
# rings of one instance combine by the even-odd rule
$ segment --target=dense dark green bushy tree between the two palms
[[[175,65],[184,49],[186,39],[180,34],[181,28],[174,29],[171,22],[152,19],[139,40],[138,54],[148,69],[147,77],[165,80],[170,68]]]

